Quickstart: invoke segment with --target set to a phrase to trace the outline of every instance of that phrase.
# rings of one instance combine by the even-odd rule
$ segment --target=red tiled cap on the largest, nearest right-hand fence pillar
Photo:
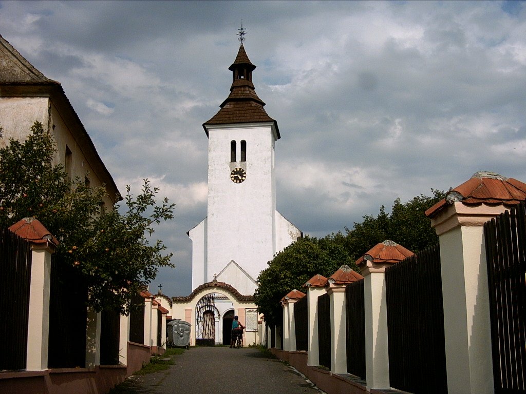
[[[479,171],[466,182],[450,190],[446,198],[426,211],[429,217],[436,216],[448,205],[461,202],[464,205],[512,206],[526,199],[526,184],[493,172]]]

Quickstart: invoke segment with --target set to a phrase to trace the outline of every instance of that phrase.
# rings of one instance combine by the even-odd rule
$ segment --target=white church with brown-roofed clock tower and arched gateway
[[[228,343],[234,315],[247,326],[248,343],[260,343],[253,296],[257,277],[276,253],[302,235],[276,210],[275,143],[280,133],[256,94],[255,68],[241,40],[229,67],[230,94],[203,125],[208,203],[205,219],[188,232],[194,291],[173,298],[174,317],[192,325],[191,343]]]

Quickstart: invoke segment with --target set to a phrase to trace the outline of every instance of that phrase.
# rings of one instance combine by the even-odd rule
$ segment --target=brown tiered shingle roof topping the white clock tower
[[[263,108],[265,102],[258,97],[252,84],[252,71],[255,68],[245,52],[245,47],[241,45],[236,60],[228,68],[232,71],[230,94],[219,106],[221,108],[219,112],[203,123],[207,136],[207,126],[272,122],[276,128],[277,138],[280,138],[278,122],[268,116]]]

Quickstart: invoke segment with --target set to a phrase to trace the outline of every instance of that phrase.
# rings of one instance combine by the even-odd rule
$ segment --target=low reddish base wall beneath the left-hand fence
[[[56,368],[43,371],[2,372],[0,394],[106,393],[150,360],[150,347],[128,343],[128,365],[95,368]]]

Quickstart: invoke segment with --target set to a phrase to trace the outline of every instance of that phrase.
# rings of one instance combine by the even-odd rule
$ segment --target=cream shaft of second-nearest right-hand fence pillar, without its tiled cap
[[[389,389],[385,266],[362,268],[367,390]]]

